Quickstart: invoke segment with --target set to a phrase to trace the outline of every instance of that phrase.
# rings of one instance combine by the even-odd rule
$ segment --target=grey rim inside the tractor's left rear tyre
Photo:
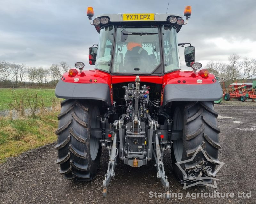
[[[91,112],[91,128],[100,128],[99,121],[97,120],[99,110],[96,106],[93,107],[93,110]],[[95,160],[97,155],[98,155],[98,150],[99,150],[99,138],[95,137],[90,137],[90,154],[92,160]]]

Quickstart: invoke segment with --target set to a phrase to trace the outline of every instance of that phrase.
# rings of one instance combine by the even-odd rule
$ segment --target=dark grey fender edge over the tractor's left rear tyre
[[[55,95],[65,99],[100,100],[111,106],[109,86],[103,83],[70,83],[60,79]]]

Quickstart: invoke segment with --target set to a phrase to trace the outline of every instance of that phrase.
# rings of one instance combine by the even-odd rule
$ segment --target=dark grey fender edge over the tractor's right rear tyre
[[[222,89],[218,81],[213,84],[167,84],[163,106],[171,101],[216,101],[221,97]]]

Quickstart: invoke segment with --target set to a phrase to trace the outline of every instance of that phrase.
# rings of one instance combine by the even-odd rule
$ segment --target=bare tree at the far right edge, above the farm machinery
[[[245,57],[242,62],[243,79],[256,77],[256,59]]]

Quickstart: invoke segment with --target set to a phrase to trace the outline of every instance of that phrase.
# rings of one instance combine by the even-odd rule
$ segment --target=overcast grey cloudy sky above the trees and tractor
[[[233,52],[256,58],[256,3],[253,0],[170,1],[170,0],[0,0],[0,59],[48,68],[60,61],[74,66],[88,63],[88,48],[98,43],[98,33],[86,16],[116,13],[183,14],[192,6],[187,25],[178,42],[196,47],[196,61],[228,61]],[[185,19],[185,18],[184,18]],[[184,48],[180,48],[182,69]]]

